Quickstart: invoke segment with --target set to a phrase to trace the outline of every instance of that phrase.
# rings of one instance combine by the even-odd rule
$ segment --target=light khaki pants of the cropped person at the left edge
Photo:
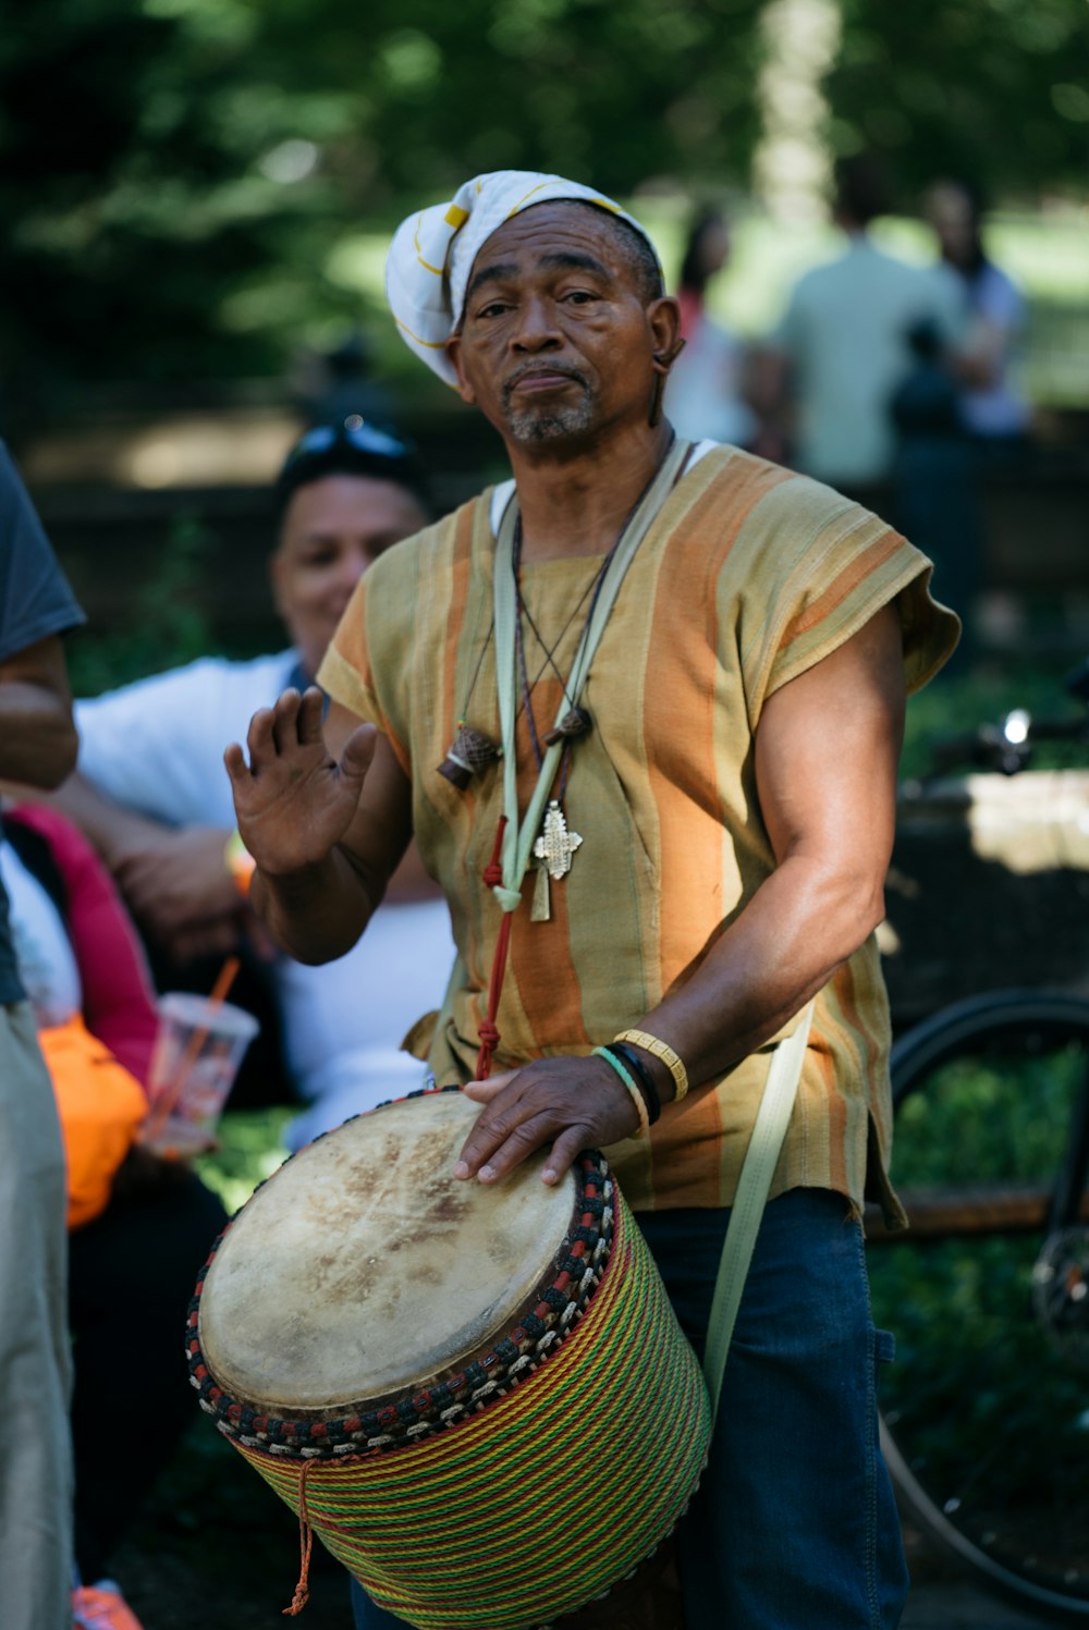
[[[70,1630],[65,1175],[26,1002],[0,1006],[0,1623]]]

